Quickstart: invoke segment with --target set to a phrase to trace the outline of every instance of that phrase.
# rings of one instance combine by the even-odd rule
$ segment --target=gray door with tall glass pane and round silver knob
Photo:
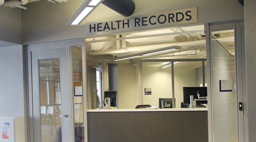
[[[69,44],[35,49],[30,52],[33,98],[33,138],[30,137],[30,141],[73,141]]]

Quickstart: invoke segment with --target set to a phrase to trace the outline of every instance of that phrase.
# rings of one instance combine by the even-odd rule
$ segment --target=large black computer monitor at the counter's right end
[[[198,99],[197,91],[200,97],[207,96],[207,87],[183,87],[183,103],[190,104],[190,95],[193,95],[194,99]],[[207,101],[197,101],[197,104],[207,104]]]

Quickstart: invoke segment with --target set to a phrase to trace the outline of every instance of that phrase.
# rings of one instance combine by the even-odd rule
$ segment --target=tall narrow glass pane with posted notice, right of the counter
[[[234,31],[212,32],[211,44],[215,140],[237,141]]]

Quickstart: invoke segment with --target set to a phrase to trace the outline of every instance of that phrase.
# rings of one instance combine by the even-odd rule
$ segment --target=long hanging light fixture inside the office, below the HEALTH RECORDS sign
[[[119,61],[119,60],[131,59],[131,58],[141,57],[142,55],[150,55],[150,54],[168,52],[168,51],[172,51],[172,50],[180,49],[180,48],[181,48],[181,46],[169,46],[167,48],[162,48],[162,49],[157,49],[157,50],[152,50],[152,51],[147,51],[147,52],[142,52],[142,53],[137,53],[137,54],[132,54],[132,55],[127,55],[127,56],[123,56],[123,57],[117,57],[117,58],[113,58],[111,60]],[[147,56],[144,56],[144,57],[147,57]]]

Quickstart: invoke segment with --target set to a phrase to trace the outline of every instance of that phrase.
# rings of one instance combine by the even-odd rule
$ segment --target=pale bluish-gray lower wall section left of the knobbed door
[[[22,45],[0,48],[0,117],[24,116]]]

